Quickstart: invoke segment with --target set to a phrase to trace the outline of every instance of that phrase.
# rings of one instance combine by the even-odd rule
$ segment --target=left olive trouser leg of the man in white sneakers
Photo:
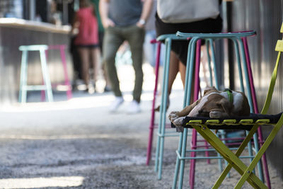
[[[120,91],[115,56],[124,39],[121,38],[118,28],[107,28],[103,39],[103,64],[105,64],[108,79],[115,96],[122,96]]]

